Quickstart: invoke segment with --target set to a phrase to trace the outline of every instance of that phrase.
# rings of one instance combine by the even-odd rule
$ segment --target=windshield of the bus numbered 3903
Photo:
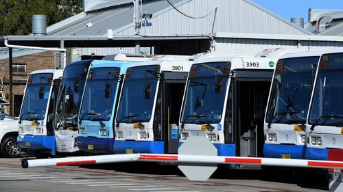
[[[230,63],[194,64],[189,72],[181,122],[219,123],[222,119]]]

